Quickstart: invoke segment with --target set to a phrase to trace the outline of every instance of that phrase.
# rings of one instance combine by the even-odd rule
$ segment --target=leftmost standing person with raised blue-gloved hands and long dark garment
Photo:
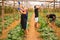
[[[24,31],[26,31],[26,26],[27,26],[27,17],[28,17],[28,11],[26,7],[21,7],[20,8],[21,12],[21,26]]]

